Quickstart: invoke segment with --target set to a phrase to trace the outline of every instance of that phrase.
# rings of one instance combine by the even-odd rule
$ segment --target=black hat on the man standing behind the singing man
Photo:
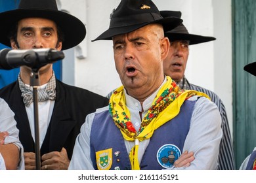
[[[163,17],[169,17],[169,16],[177,16],[178,18],[181,18],[181,12],[180,11],[169,11],[164,10],[160,11],[161,16]],[[175,29],[172,29],[171,31],[165,32],[165,36],[169,38],[170,41],[177,41],[177,40],[188,40],[191,44],[198,44],[202,42],[208,42],[208,41],[214,41],[215,37],[207,37],[202,35],[194,35],[188,33],[188,30],[186,27],[181,24],[178,27],[175,27]]]

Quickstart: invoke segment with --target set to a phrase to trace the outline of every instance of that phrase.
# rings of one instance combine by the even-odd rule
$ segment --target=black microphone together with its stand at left
[[[36,50],[36,51],[35,51]],[[7,59],[7,63],[3,66],[7,70],[21,65],[26,65],[32,69],[30,73],[30,86],[33,88],[33,114],[35,123],[35,163],[36,169],[41,170],[41,155],[40,155],[40,141],[39,141],[39,115],[38,115],[38,95],[37,88],[40,86],[39,69],[48,63],[53,63],[58,59],[63,59],[63,52],[54,49],[35,49],[35,50],[12,50],[4,49],[0,52],[0,59]],[[10,52],[10,55],[9,55]],[[18,56],[17,56],[18,54]],[[11,60],[11,61],[10,61]],[[10,62],[9,62],[10,61]],[[1,66],[1,62],[0,62]]]

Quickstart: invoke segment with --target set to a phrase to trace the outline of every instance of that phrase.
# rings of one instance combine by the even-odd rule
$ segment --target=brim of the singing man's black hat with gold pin
[[[122,27],[112,27],[108,30],[104,31],[101,35],[99,35],[96,39],[92,41],[98,41],[98,40],[111,40],[112,37],[116,35],[121,35],[125,33],[130,33],[132,31],[135,31],[141,27],[144,27],[148,24],[162,24],[163,25],[163,31],[170,31],[171,29],[174,29],[178,25],[182,23],[182,20],[177,17],[168,17],[168,18],[161,18],[159,20],[155,20],[153,22],[144,22],[142,24],[135,24],[135,25],[128,25],[128,26],[122,26]]]

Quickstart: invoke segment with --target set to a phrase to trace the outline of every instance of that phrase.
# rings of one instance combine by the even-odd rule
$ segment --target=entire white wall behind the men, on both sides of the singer
[[[82,20],[87,28],[86,39],[78,48],[66,52],[67,59],[63,61],[64,82],[100,95],[107,95],[121,85],[114,65],[112,41],[91,42],[108,29],[110,13],[119,2],[120,0],[58,0],[62,10],[68,10]],[[181,18],[190,33],[217,38],[216,41],[190,46],[185,75],[190,83],[212,90],[221,97],[232,131],[231,0],[153,2],[159,10],[181,10]],[[77,54],[81,59],[77,58]]]

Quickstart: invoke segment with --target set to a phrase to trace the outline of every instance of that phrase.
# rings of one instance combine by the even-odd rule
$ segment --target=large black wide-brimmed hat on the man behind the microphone
[[[79,44],[86,35],[83,22],[75,16],[58,10],[55,0],[20,0],[17,9],[0,13],[0,42],[11,47],[11,27],[23,18],[47,18],[53,20],[64,33],[62,50]]]

